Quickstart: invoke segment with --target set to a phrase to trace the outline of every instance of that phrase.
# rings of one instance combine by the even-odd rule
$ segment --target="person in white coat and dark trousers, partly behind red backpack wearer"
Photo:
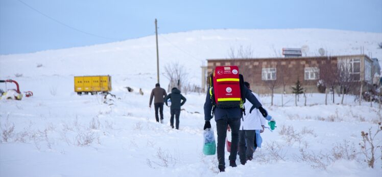
[[[248,87],[248,89],[250,89],[250,85],[248,82],[244,82],[244,84]],[[258,95],[253,92],[252,94],[260,102]],[[253,152],[255,150],[255,147],[257,147],[257,144],[255,144],[256,131],[260,133],[264,132],[264,126],[266,123],[265,118],[261,116],[261,113],[258,110],[249,113],[249,108],[252,107],[252,104],[249,101],[246,101],[244,103],[244,107],[248,109],[245,110],[245,115],[243,115],[241,119],[238,147],[240,163],[242,163],[243,165],[248,160],[253,159]]]

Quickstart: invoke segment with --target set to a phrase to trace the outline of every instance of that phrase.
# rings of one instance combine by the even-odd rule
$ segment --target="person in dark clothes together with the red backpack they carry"
[[[238,73],[237,66],[218,66],[210,76],[210,90],[206,94],[204,103],[204,130],[211,128],[210,120],[215,116],[218,132],[217,154],[220,172],[225,171],[224,147],[227,136],[227,126],[231,127],[231,152],[229,166],[236,167],[236,156],[238,147],[238,130],[240,119],[244,111],[244,102],[252,103],[250,113],[258,109],[262,116],[266,117],[268,112],[261,107],[261,103],[244,86],[243,75]],[[212,114],[211,114],[212,111]]]

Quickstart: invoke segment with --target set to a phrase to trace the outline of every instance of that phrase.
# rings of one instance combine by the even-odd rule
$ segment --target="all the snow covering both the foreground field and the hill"
[[[205,58],[227,57],[229,48],[238,45],[251,45],[256,55],[266,57],[274,55],[272,48],[302,45],[309,45],[311,50],[323,47],[336,54],[358,54],[356,47],[362,44],[365,53],[382,58],[382,51],[374,46],[382,34],[374,33],[210,30],[160,36],[161,71],[166,64],[178,61],[195,84],[200,84],[200,66]],[[75,75],[93,74],[112,76],[111,93],[116,98],[78,96],[73,91]],[[154,110],[148,105],[156,83],[152,36],[1,55],[0,79],[15,79],[21,91],[34,93],[21,101],[0,100],[0,176],[382,175],[381,150],[376,151],[374,168],[369,168],[359,145],[361,131],[372,127],[375,132],[382,121],[378,105],[363,102],[360,106],[353,96],[346,96],[341,105],[338,95],[334,104],[329,98],[325,105],[323,94],[307,94],[307,106],[303,106],[303,97],[295,106],[294,96],[286,95],[283,107],[281,95],[275,96],[274,106],[269,96],[262,95],[262,102],[276,119],[276,130],[262,133],[262,148],[255,152],[253,161],[237,168],[227,165],[226,172],[218,173],[216,155],[202,154],[204,94],[184,95],[187,102],[181,111],[180,130],[171,129],[167,107],[164,124],[155,122]],[[167,84],[161,76],[161,85]],[[127,92],[126,86],[134,92]],[[4,90],[5,84],[0,88]],[[137,93],[139,88],[143,96]],[[216,130],[213,122],[212,127]],[[382,144],[381,133],[374,143]]]

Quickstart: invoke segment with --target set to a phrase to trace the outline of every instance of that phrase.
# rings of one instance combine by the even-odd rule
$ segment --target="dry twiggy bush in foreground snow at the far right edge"
[[[375,152],[380,149],[382,151],[382,147],[379,143],[375,142],[375,136],[382,131],[381,123],[377,124],[377,130],[373,133],[371,132],[371,127],[368,132],[361,132],[362,142],[359,143],[361,146],[361,152],[365,155],[365,162],[369,165],[369,167],[374,168],[375,163]],[[379,158],[379,157],[377,157]]]

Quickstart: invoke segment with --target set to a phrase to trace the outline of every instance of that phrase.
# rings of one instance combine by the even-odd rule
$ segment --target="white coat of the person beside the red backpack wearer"
[[[257,94],[252,94],[256,97],[256,99],[261,103],[259,97]],[[253,109],[252,113],[249,113],[249,110],[252,107],[252,103],[250,103],[248,100],[244,103],[245,107],[245,114],[243,114],[243,117],[240,124],[240,130],[262,130],[262,125],[264,126],[266,123],[265,118],[261,115],[260,111],[258,109]]]

